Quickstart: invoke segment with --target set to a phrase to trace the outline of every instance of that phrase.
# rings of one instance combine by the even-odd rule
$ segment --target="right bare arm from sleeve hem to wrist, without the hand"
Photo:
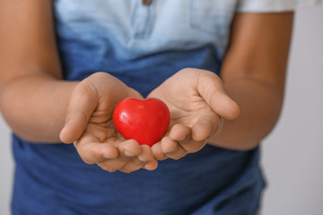
[[[238,13],[221,77],[240,106],[240,116],[225,120],[211,144],[254,148],[278,119],[284,98],[293,13]]]

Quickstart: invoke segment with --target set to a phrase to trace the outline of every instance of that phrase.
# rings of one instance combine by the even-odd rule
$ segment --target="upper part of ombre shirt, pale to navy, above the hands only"
[[[198,3],[57,1],[65,78],[105,71],[146,95],[183,67],[218,72],[236,0],[214,1],[216,10]]]

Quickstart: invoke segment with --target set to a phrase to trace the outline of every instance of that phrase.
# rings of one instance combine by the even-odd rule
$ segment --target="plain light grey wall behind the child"
[[[262,215],[323,214],[323,5],[298,12],[284,109],[262,143]],[[0,116],[0,214],[10,214],[13,158]],[[230,214],[228,214],[230,215]]]

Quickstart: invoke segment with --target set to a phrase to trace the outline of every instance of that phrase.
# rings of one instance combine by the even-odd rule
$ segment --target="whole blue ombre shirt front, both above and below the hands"
[[[103,71],[144,96],[185,67],[219,73],[232,17],[248,8],[238,0],[53,4],[65,80]],[[14,215],[256,214],[264,187],[258,149],[206,145],[182,159],[163,160],[154,171],[131,174],[84,164],[72,144],[30,143],[13,135],[13,151]]]

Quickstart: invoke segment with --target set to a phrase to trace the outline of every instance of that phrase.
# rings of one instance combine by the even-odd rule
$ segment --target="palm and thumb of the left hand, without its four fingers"
[[[66,114],[68,127],[61,133],[62,141],[74,142],[83,134],[100,142],[118,137],[112,113],[118,102],[127,97],[142,98],[137,91],[108,73],[94,73],[80,82],[71,95]]]

